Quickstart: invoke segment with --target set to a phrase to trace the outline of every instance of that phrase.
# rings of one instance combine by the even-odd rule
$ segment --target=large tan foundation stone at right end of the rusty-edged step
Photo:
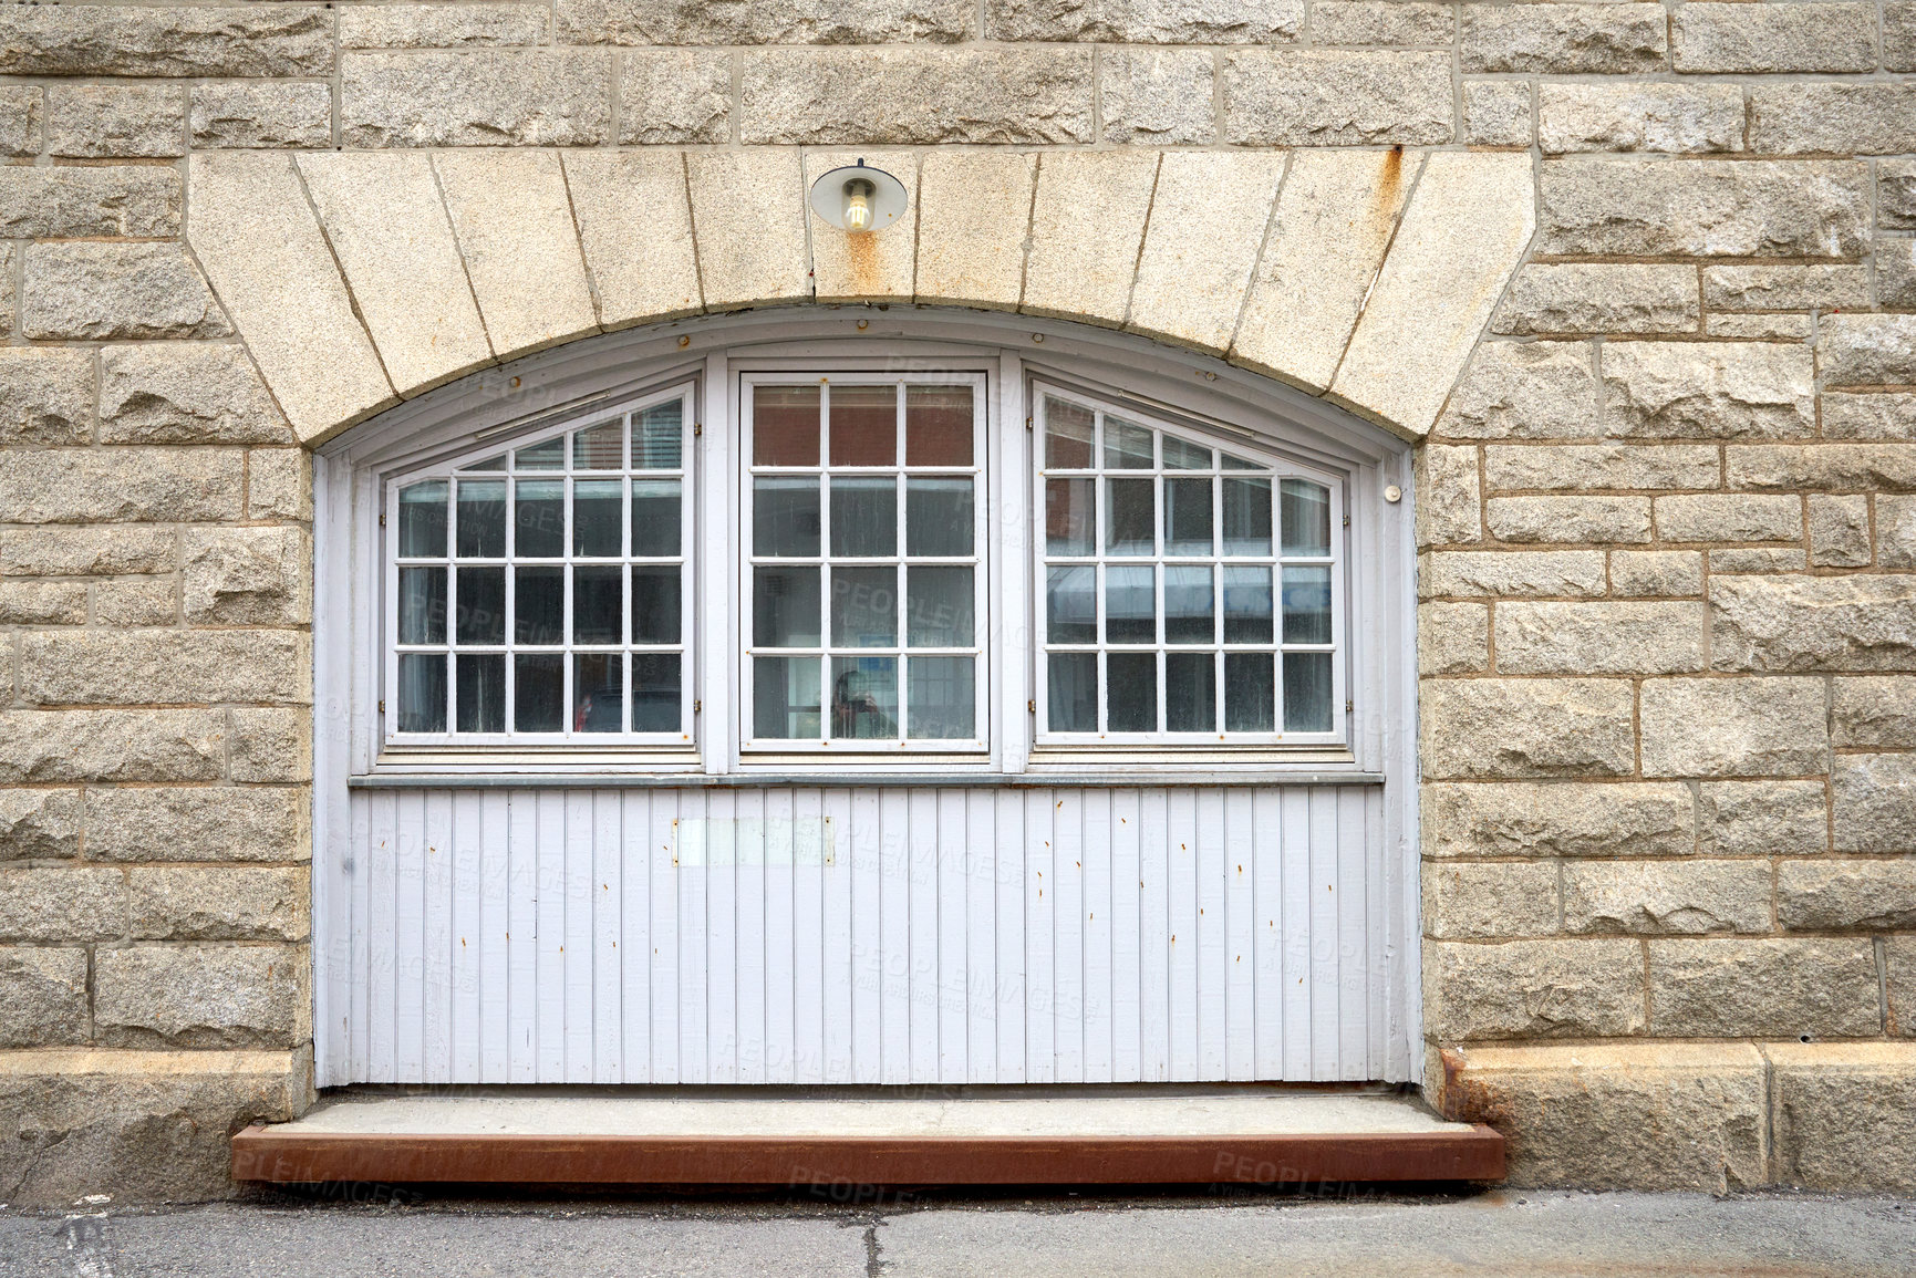
[[[1747,1042],[1447,1048],[1443,1067],[1445,1115],[1504,1132],[1514,1188],[1768,1182],[1763,1056]]]

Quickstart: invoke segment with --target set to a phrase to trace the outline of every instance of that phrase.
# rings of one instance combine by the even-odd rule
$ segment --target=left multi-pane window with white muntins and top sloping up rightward
[[[692,738],[692,391],[387,489],[395,743]]]

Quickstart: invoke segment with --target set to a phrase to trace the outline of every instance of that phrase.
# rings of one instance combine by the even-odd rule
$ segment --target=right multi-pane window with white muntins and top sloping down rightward
[[[1341,740],[1337,489],[1040,387],[1038,740]]]

